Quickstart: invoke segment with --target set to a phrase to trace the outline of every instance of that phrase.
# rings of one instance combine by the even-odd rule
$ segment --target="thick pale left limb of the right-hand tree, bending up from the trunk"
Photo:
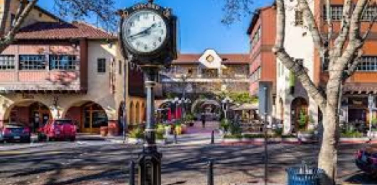
[[[290,55],[284,50],[284,40],[285,40],[285,5],[284,0],[277,0],[277,17],[276,17],[276,42],[273,47],[273,52],[279,58],[279,60],[284,64],[285,67],[292,70],[297,78],[300,80],[303,87],[307,90],[308,94],[316,101],[316,104],[320,107],[322,111],[326,109],[326,99],[322,95],[319,89],[314,85],[313,81],[310,79],[307,70],[290,57]]]

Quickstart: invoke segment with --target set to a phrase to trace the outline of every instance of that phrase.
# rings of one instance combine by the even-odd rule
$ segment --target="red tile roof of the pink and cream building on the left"
[[[37,22],[21,28],[15,38],[19,40],[55,40],[72,38],[115,39],[116,37],[109,32],[83,22]]]

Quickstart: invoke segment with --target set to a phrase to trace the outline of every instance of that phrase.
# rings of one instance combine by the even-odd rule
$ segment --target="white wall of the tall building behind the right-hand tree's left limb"
[[[314,1],[309,1],[310,8],[314,11]],[[311,79],[314,77],[314,43],[310,31],[304,26],[295,25],[295,11],[297,9],[297,1],[285,0],[286,6],[286,23],[285,23],[285,43],[284,47],[288,54],[295,59],[303,59],[304,66],[309,71]],[[289,93],[290,70],[283,66],[281,61],[277,59],[277,96],[276,96],[276,118],[284,123],[284,133],[289,133],[291,126],[291,103],[296,97],[307,99],[309,104],[309,116],[317,118],[317,106],[311,98],[308,99],[305,93],[291,95]],[[280,68],[280,69],[279,69]],[[300,91],[302,92],[302,91]],[[282,99],[282,105],[279,100]],[[284,113],[282,113],[284,106]],[[283,115],[283,118],[282,116]],[[314,120],[316,122],[316,120]]]

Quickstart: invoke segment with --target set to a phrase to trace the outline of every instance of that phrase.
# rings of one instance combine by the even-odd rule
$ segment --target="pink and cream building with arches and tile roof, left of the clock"
[[[17,4],[3,1],[4,25]],[[69,118],[80,132],[99,133],[107,126],[116,135],[125,79],[127,124],[143,122],[143,75],[138,67],[124,67],[114,35],[35,6],[15,39],[0,54],[0,126],[19,122],[37,131],[51,119]]]

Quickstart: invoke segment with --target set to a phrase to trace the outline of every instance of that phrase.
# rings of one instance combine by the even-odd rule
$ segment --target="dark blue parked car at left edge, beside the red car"
[[[17,123],[10,122],[3,126],[0,130],[1,138],[4,142],[9,141],[21,141],[21,142],[30,142],[31,130],[29,127]]]

